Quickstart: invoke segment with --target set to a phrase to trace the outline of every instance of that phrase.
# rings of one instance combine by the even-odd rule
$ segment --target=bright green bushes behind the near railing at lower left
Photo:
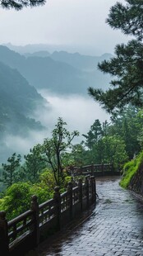
[[[8,187],[4,196],[0,199],[0,211],[7,212],[7,220],[30,209],[31,197],[36,195],[39,204],[52,197],[48,187],[41,187],[42,184],[14,183]]]

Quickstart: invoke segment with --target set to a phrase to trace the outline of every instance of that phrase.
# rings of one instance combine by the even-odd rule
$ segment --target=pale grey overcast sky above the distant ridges
[[[124,0],[118,0],[124,2]],[[85,54],[113,53],[127,36],[106,23],[116,0],[49,0],[44,7],[0,9],[0,43],[74,45]]]

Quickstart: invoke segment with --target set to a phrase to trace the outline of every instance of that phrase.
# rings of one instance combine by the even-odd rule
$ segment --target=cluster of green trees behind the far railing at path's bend
[[[86,164],[113,164],[114,168],[120,170],[122,164],[127,161],[126,145],[122,136],[114,130],[113,124],[107,121],[100,124],[99,120],[94,122],[86,138],[85,146],[89,150],[85,151],[88,159]],[[116,127],[117,128],[117,127]]]

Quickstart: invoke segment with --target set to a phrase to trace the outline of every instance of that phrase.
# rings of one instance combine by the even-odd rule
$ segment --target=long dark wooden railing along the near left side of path
[[[88,176],[84,184],[79,179],[76,187],[68,183],[67,192],[62,194],[59,187],[55,187],[53,199],[40,205],[38,198],[33,196],[30,210],[9,222],[6,212],[0,211],[0,255],[24,255],[35,249],[51,232],[60,230],[95,203],[95,199],[95,177]]]

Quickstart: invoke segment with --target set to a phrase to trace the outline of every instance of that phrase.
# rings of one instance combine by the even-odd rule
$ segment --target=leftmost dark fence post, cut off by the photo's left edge
[[[7,256],[9,254],[8,226],[5,211],[0,211],[0,251],[2,255]]]

